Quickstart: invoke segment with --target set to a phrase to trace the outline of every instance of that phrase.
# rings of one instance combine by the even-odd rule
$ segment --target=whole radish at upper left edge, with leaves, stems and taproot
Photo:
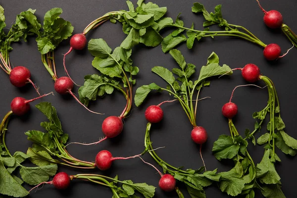
[[[0,6],[1,10],[4,9]],[[37,94],[40,96],[38,91],[38,87],[32,82],[31,73],[28,68],[24,66],[16,66],[12,67],[9,59],[9,52],[12,50],[11,45],[14,42],[19,42],[22,39],[26,41],[26,37],[31,35],[30,28],[31,26],[26,23],[23,16],[32,15],[32,11],[24,11],[17,15],[16,22],[12,25],[9,29],[9,32],[6,34],[3,31],[5,28],[5,17],[4,13],[2,12],[2,18],[0,22],[2,22],[0,27],[0,68],[9,75],[10,83],[15,87],[24,87],[26,84],[31,83],[36,90]],[[22,25],[20,25],[22,24]],[[21,27],[21,28],[20,28]]]

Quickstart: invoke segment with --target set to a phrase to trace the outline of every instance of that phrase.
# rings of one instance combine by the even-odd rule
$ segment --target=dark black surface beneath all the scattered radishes
[[[136,0],[133,0],[136,3]],[[148,2],[148,1],[147,1]],[[202,29],[204,21],[201,15],[191,12],[191,7],[195,0],[152,0],[159,6],[167,6],[167,16],[176,18],[179,12],[182,12],[181,18],[185,22],[186,27],[190,27],[195,22],[196,29]],[[281,46],[282,52],[291,48],[292,44],[279,30],[269,30],[263,23],[263,13],[259,9],[255,0],[200,0],[208,11],[212,11],[214,6],[222,4],[223,16],[229,23],[242,25],[258,36],[264,43],[277,43]],[[75,27],[74,33],[83,31],[91,21],[103,15],[106,12],[127,9],[127,5],[123,0],[2,0],[0,3],[5,9],[6,24],[10,24],[15,20],[15,16],[21,11],[28,8],[37,9],[36,14],[42,20],[45,12],[52,7],[61,7],[64,19],[69,20]],[[266,10],[278,9],[284,16],[284,23],[291,26],[294,31],[297,13],[295,8],[297,1],[286,0],[286,2],[271,0],[266,2],[263,0],[262,6]],[[215,29],[215,27],[213,27]],[[162,32],[163,36],[169,32]],[[103,38],[107,44],[114,49],[124,40],[125,34],[122,32],[121,24],[111,24],[109,22],[101,25],[98,29],[91,32],[87,36],[91,38]],[[30,69],[32,80],[40,87],[41,93],[49,93],[53,90],[53,81],[49,73],[41,62],[41,55],[37,50],[34,38],[29,39],[28,43],[14,44],[13,51],[10,53],[11,62],[14,66],[23,65]],[[69,49],[69,42],[63,42],[56,50],[57,73],[59,76],[64,75],[62,67],[62,53]],[[206,64],[206,59],[212,51],[215,51],[220,57],[221,64],[227,64],[231,68],[243,67],[247,63],[254,63],[261,69],[261,73],[268,76],[275,83],[278,96],[281,102],[282,118],[286,123],[286,132],[294,138],[296,119],[295,112],[297,110],[297,84],[296,78],[296,50],[292,51],[282,59],[268,62],[264,59],[262,49],[243,40],[231,39],[226,37],[211,39],[203,39],[202,42],[195,43],[194,48],[189,50],[183,44],[178,47],[184,54],[188,63],[193,63],[198,70],[202,65]],[[132,59],[134,65],[140,68],[137,76],[137,87],[155,82],[160,86],[165,86],[165,82],[157,75],[153,74],[150,69],[153,66],[161,65],[171,69],[177,64],[170,56],[161,51],[161,46],[156,48],[146,48],[139,45],[133,49]],[[93,57],[88,51],[73,51],[67,56],[66,64],[68,71],[73,79],[80,85],[84,82],[84,76],[87,74],[98,73],[91,65]],[[198,78],[198,72],[195,75]],[[18,89],[9,83],[8,76],[4,72],[0,72],[0,117],[3,117],[10,110],[10,101],[17,96],[31,99],[36,97],[34,89],[28,85],[25,88]],[[230,99],[233,88],[237,85],[246,84],[241,77],[239,71],[233,76],[214,79],[210,87],[203,88],[200,93],[201,97],[210,96],[211,99],[205,99],[198,103],[197,122],[203,126],[208,132],[208,140],[203,145],[202,153],[208,170],[218,168],[218,171],[227,171],[232,167],[228,162],[220,162],[215,159],[211,153],[213,142],[221,134],[230,134],[227,120],[221,115],[222,105]],[[263,86],[262,82],[258,83]],[[77,93],[77,87],[74,92]],[[96,146],[78,146],[71,145],[68,150],[72,155],[84,160],[95,160],[95,156],[101,149],[108,149],[113,156],[131,156],[141,153],[144,149],[144,136],[147,121],[144,117],[145,109],[150,104],[158,104],[167,99],[172,99],[166,93],[152,94],[146,102],[139,108],[133,106],[133,111],[128,119],[125,119],[124,130],[122,134],[112,140],[107,140]],[[253,128],[254,120],[251,114],[254,111],[262,109],[267,102],[268,94],[266,89],[258,89],[254,87],[240,88],[235,92],[233,102],[239,106],[239,114],[234,119],[235,125],[239,132],[244,134],[245,128]],[[32,102],[32,110],[29,114],[22,117],[13,116],[9,123],[9,132],[6,136],[7,146],[13,153],[16,150],[26,152],[31,146],[31,142],[27,141],[24,134],[27,130],[42,130],[40,122],[45,121],[46,117],[34,105],[40,101],[50,101],[57,108],[59,118],[61,120],[63,130],[69,134],[70,142],[95,142],[99,137],[103,136],[101,132],[101,123],[103,119],[109,115],[119,115],[125,105],[125,100],[119,93],[114,93],[104,99],[92,102],[90,108],[95,111],[105,112],[105,115],[96,115],[86,111],[70,96],[61,97],[55,93],[55,96],[48,96],[45,99]],[[164,119],[160,124],[153,125],[151,129],[151,139],[153,147],[166,147],[159,149],[157,153],[168,163],[175,166],[185,166],[187,168],[196,169],[202,165],[199,156],[199,147],[195,145],[191,138],[191,124],[183,112],[179,103],[170,103],[163,105]],[[262,132],[265,130],[263,129]],[[259,137],[259,133],[256,134]],[[249,146],[248,148],[255,163],[259,163],[263,155],[261,146]],[[296,178],[297,159],[288,157],[277,149],[277,154],[281,157],[282,162],[276,164],[278,173],[280,174],[283,184],[283,192],[287,198],[294,198],[297,194]],[[144,159],[154,163],[149,155],[145,155]],[[160,169],[160,167],[158,167]],[[66,168],[60,166],[58,171],[66,171],[68,174],[77,174],[84,171]],[[159,175],[155,170],[144,164],[140,159],[130,159],[115,161],[110,171],[101,172],[94,170],[94,173],[102,173],[114,177],[119,175],[120,180],[131,179],[134,182],[146,182],[150,185],[158,186]],[[181,186],[185,198],[190,198],[186,189]],[[25,185],[26,189],[31,187]],[[227,198],[219,189],[213,185],[205,189],[207,198]],[[82,197],[98,197],[110,198],[112,193],[110,189],[91,184],[88,182],[74,181],[71,187],[66,191],[57,191],[53,186],[44,186],[42,190],[32,193],[30,198],[82,198]],[[175,193],[163,193],[159,188],[156,189],[155,198],[177,198]],[[256,198],[261,198],[260,192],[256,192]]]

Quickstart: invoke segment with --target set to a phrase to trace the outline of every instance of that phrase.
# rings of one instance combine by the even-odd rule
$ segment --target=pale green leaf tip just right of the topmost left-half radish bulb
[[[103,39],[91,39],[88,44],[90,53],[99,58],[106,58],[111,54],[111,48]]]

